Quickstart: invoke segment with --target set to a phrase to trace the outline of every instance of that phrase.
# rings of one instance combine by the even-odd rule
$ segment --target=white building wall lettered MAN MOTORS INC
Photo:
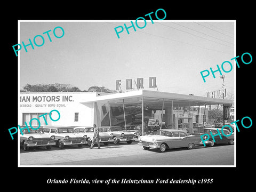
[[[45,93],[20,93],[18,98],[18,123],[24,125],[24,116],[30,119],[36,115],[47,113],[48,125],[82,126],[94,123],[94,109],[92,103],[82,104],[86,99],[93,99],[106,93],[99,92],[45,92]],[[58,110],[60,119],[51,121],[49,113]],[[78,121],[75,121],[75,113],[78,113]],[[26,114],[26,115],[24,115]],[[53,111],[51,117],[58,119],[58,113]],[[42,119],[41,119],[42,118]],[[39,120],[44,122],[43,117]],[[29,125],[29,122],[26,121]],[[37,121],[33,120],[32,123]],[[38,124],[37,124],[38,125]]]

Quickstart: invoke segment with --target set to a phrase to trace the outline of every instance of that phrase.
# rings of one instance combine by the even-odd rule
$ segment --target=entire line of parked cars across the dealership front
[[[138,145],[141,145],[143,149],[158,149],[159,152],[164,152],[166,149],[187,147],[192,149],[195,145],[203,145],[201,134],[212,133],[217,134],[214,136],[214,140],[209,138],[207,145],[213,147],[215,143],[228,143],[234,144],[234,134],[226,129],[209,127],[204,129],[204,133],[188,134],[184,130],[176,129],[160,129],[154,134],[138,135],[138,131],[123,130],[119,126],[102,126],[100,129],[100,143],[109,145],[109,142],[113,142],[117,145],[121,141],[132,143],[134,138],[138,137]],[[221,133],[218,135],[218,131]],[[44,126],[37,130],[23,130],[23,135],[20,135],[20,146],[23,150],[29,150],[29,147],[42,147],[46,146],[47,149],[51,149],[53,145],[63,148],[66,145],[77,145],[82,147],[83,145],[91,146],[93,139],[93,127],[68,127],[68,126]],[[228,137],[226,135],[229,135]]]

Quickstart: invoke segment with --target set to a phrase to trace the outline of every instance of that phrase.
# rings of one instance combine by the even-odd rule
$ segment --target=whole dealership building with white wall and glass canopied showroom
[[[122,93],[21,92],[18,103],[20,126],[25,126],[25,122],[29,125],[33,118],[38,118],[44,126],[46,123],[41,115],[47,113],[44,117],[48,125],[74,127],[97,124],[122,126],[124,129],[138,125],[143,127],[142,133],[149,127],[161,129],[165,125],[169,129],[196,133],[199,130],[193,123],[210,121],[208,106],[231,105],[232,101],[141,89]],[[59,111],[58,121],[51,121],[49,113],[52,110]],[[52,112],[51,117],[57,119],[58,114]],[[38,121],[30,123],[33,127],[38,126]]]

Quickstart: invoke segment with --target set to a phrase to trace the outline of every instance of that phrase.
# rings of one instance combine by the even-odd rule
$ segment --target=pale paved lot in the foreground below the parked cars
[[[165,153],[157,150],[144,150],[137,145],[122,142],[119,145],[97,145],[90,149],[65,146],[51,150],[45,147],[31,148],[29,151],[20,149],[20,165],[234,165],[234,145],[218,145],[214,147],[195,146],[170,149]]]

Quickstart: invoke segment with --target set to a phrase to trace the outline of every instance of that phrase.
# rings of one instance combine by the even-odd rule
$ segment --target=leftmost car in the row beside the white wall
[[[51,149],[55,145],[55,137],[53,135],[45,134],[43,129],[27,129],[23,130],[20,133],[20,146],[23,150],[29,150],[29,147],[43,147],[46,146],[46,149]]]

